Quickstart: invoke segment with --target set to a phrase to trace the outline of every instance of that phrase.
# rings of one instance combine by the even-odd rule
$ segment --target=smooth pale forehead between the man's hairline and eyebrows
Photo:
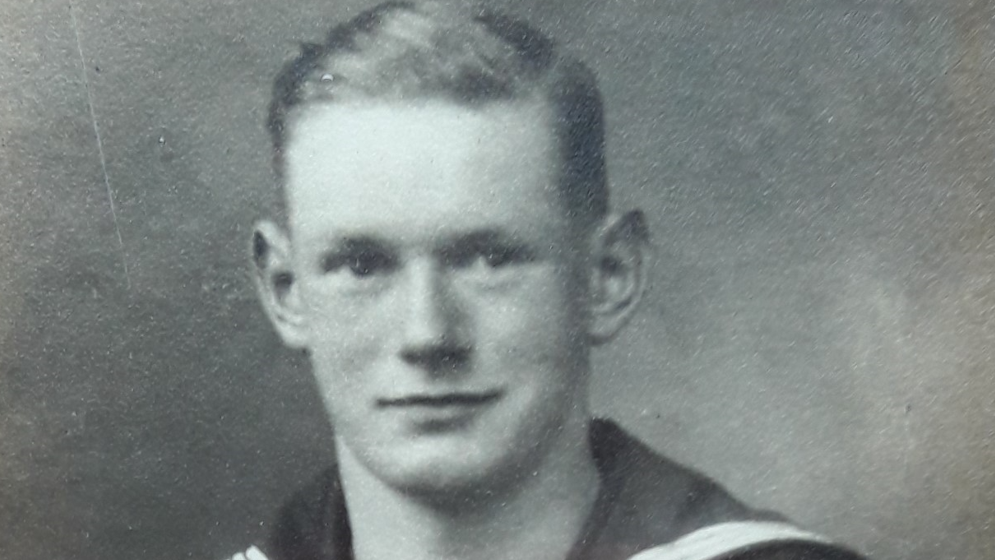
[[[538,101],[303,109],[285,154],[292,233],[561,220],[550,114]]]

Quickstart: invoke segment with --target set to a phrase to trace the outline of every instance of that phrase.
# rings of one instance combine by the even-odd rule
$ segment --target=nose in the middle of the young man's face
[[[461,369],[470,348],[462,332],[463,310],[445,272],[432,259],[415,259],[407,268],[401,358],[432,373]]]

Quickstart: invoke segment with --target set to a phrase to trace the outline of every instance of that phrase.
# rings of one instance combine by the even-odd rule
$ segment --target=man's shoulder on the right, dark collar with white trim
[[[602,504],[607,513],[596,539],[602,551],[628,550],[618,556],[636,560],[860,558],[776,513],[747,506],[610,421],[594,422],[592,447],[611,495]]]

